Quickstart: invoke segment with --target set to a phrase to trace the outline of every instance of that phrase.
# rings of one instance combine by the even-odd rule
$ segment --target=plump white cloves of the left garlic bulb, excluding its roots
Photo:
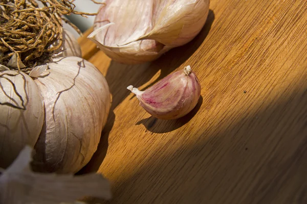
[[[75,173],[97,149],[111,107],[107,82],[79,57],[53,61],[33,68],[30,77],[0,71],[1,167],[28,144],[36,150],[35,170]]]

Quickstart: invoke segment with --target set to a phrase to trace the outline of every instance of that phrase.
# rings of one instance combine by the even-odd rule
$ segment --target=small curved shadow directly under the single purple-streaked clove
[[[198,113],[202,104],[203,97],[201,96],[194,109],[181,118],[174,120],[161,120],[150,116],[148,118],[138,121],[136,125],[143,124],[147,129],[145,132],[149,131],[152,133],[168,133],[179,129],[181,126],[188,123],[196,115],[196,113]]]

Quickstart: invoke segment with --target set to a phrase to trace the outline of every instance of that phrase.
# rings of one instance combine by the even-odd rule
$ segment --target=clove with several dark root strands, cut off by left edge
[[[43,124],[40,90],[25,73],[0,72],[0,167],[7,168],[19,151],[34,147]]]

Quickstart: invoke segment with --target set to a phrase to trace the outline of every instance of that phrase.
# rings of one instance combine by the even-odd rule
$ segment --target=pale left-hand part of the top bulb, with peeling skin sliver
[[[151,28],[152,2],[106,0],[106,5],[101,6],[96,16],[94,29],[96,31],[109,22],[115,24],[95,33],[90,39],[107,56],[121,63],[138,64],[157,59],[168,50],[163,44],[155,40],[133,42]],[[138,12],[135,12],[136,8]],[[129,44],[124,45],[126,43]]]

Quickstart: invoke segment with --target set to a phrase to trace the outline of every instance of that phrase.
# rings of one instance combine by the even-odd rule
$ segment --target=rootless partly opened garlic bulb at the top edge
[[[203,28],[209,0],[106,0],[96,16],[92,39],[121,63],[153,61],[191,41]],[[108,22],[115,23],[100,29]]]

